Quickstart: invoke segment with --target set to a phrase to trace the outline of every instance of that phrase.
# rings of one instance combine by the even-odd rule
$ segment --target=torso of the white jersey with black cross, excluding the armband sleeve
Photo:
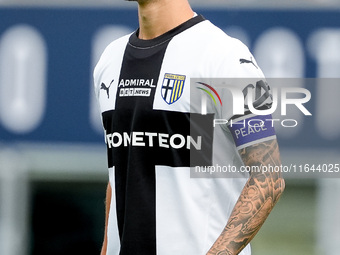
[[[112,186],[108,255],[203,255],[217,239],[246,178],[190,178],[191,153],[203,151],[202,164],[242,164],[230,132],[203,127],[214,115],[192,112],[190,79],[262,79],[257,66],[240,63],[250,58],[200,15],[155,39],[140,40],[137,30],[105,49],[94,81]]]

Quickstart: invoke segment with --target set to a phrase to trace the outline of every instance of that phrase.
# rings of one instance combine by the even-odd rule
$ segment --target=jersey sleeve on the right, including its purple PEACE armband
[[[229,55],[230,75],[220,88],[222,107],[218,117],[225,120],[222,128],[233,136],[237,149],[274,139],[270,108],[272,91],[254,56],[235,40]]]

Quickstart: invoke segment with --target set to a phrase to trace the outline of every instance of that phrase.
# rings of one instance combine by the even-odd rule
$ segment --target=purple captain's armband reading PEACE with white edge
[[[247,115],[228,122],[238,150],[276,138],[271,115]]]

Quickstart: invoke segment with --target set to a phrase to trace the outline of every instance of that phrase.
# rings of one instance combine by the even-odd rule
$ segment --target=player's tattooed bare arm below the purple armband
[[[281,165],[277,141],[270,140],[239,151],[246,166]],[[253,171],[229,221],[207,255],[236,255],[252,240],[284,190],[281,173]]]

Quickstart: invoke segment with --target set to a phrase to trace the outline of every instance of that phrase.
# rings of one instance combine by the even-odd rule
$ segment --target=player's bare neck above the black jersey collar
[[[149,40],[177,27],[194,15],[186,0],[140,1],[139,38]]]

